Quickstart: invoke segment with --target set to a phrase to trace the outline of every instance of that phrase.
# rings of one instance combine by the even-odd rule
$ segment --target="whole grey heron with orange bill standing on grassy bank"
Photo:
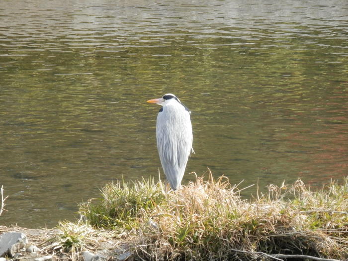
[[[148,102],[162,106],[156,123],[157,149],[166,177],[172,189],[176,190],[181,184],[190,152],[193,152],[190,111],[172,93]]]

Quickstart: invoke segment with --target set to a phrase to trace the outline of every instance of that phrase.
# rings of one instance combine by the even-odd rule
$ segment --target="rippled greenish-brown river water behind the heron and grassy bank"
[[[168,92],[192,111],[183,183],[342,180],[348,1],[1,1],[0,225],[53,227],[109,180],[157,179],[146,100]]]

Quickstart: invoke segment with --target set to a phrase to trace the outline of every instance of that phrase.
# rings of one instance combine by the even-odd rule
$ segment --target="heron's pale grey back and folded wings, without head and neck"
[[[192,148],[192,126],[187,111],[183,117],[170,118],[159,113],[156,127],[157,148],[166,177],[173,189],[182,180]]]

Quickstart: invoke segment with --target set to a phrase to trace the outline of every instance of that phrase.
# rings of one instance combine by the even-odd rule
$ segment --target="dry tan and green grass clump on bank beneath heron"
[[[96,227],[136,236],[144,260],[348,258],[348,178],[312,192],[298,179],[247,201],[226,177],[177,191],[162,183],[110,183],[81,213]]]

